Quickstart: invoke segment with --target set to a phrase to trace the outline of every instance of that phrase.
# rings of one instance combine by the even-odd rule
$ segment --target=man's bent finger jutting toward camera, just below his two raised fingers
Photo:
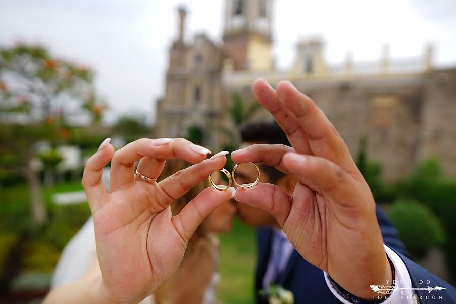
[[[283,163],[298,182],[324,194],[338,205],[353,207],[373,201],[354,194],[358,188],[355,180],[340,166],[327,159],[287,153],[283,157]],[[353,199],[354,197],[357,199]]]

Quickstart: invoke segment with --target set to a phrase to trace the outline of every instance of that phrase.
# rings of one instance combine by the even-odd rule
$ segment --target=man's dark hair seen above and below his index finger
[[[242,142],[284,144],[291,146],[287,135],[276,121],[246,122],[239,127]],[[271,183],[276,183],[286,174],[274,167],[260,164]]]

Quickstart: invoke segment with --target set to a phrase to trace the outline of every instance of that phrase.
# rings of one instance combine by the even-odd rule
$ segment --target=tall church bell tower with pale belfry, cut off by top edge
[[[227,69],[268,71],[272,60],[272,0],[225,0]]]

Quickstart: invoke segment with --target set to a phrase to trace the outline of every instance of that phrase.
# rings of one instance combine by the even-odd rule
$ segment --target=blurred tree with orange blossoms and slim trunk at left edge
[[[0,164],[3,172],[27,181],[36,224],[47,219],[39,178],[31,166],[37,143],[64,142],[68,118],[101,119],[105,107],[97,101],[92,83],[88,67],[54,57],[43,46],[0,48]]]

